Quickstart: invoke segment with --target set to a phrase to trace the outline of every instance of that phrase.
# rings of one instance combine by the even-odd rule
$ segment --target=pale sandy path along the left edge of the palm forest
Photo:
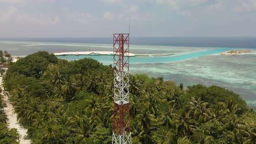
[[[2,84],[2,79],[3,79],[3,77],[0,77],[0,84]],[[1,85],[1,88],[3,89],[2,85]],[[16,115],[16,113],[13,114],[13,106],[10,104],[10,101],[8,100],[6,95],[4,96],[4,100],[7,101],[7,103],[6,103],[7,108],[5,108],[5,114],[7,115],[7,118],[9,118],[8,128],[16,128],[18,130],[19,134],[21,135],[20,144],[30,144],[31,143],[30,140],[24,140],[24,138],[23,138],[24,136],[26,136],[27,130],[25,128],[21,127],[20,124],[18,124],[17,115]]]

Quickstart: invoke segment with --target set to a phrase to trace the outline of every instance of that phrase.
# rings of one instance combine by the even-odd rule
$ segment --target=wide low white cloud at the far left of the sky
[[[7,7],[6,10],[0,12],[0,21],[15,22],[17,24],[36,24],[36,25],[55,25],[59,24],[59,16],[47,16],[45,14],[29,14],[21,13],[15,7]]]

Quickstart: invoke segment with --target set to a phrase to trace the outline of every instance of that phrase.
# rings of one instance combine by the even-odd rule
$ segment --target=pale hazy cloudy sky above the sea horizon
[[[0,38],[256,36],[256,0],[0,0]]]

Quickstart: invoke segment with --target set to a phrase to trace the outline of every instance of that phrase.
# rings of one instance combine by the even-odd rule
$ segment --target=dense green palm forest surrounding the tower
[[[3,87],[33,144],[111,144],[112,75],[112,65],[43,51],[11,62]],[[256,143],[256,113],[225,88],[130,74],[129,90],[133,144]],[[0,144],[16,141],[0,112]]]

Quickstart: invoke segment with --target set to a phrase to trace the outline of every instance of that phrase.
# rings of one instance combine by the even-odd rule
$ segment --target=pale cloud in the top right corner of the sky
[[[233,8],[235,13],[245,13],[256,11],[256,0],[242,0],[237,3],[239,6]]]

